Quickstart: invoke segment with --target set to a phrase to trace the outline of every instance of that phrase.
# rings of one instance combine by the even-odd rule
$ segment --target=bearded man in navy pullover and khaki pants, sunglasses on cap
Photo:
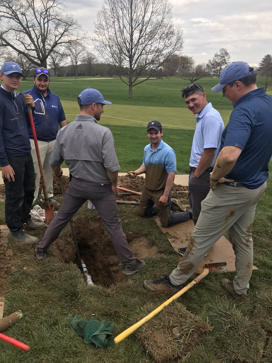
[[[44,171],[45,184],[48,190],[49,203],[59,206],[58,201],[53,198],[53,170],[50,167],[49,160],[57,137],[58,126],[66,126],[67,122],[58,95],[52,93],[48,88],[50,83],[48,69],[43,67],[37,68],[34,73],[33,82],[34,86],[32,89],[22,93],[32,95],[34,99],[36,107],[34,125],[41,156],[42,170]],[[38,197],[41,174],[31,127],[29,127],[28,132],[35,169],[35,201]],[[44,201],[43,191],[41,201]]]

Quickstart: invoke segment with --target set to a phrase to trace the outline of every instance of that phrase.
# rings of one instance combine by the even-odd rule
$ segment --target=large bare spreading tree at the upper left
[[[85,38],[71,14],[63,14],[62,0],[0,0],[0,46],[9,46],[37,66],[47,66],[59,46]],[[80,34],[80,35],[79,35]]]

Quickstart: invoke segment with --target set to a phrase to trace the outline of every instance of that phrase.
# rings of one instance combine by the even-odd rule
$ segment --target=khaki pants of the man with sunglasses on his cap
[[[44,171],[45,185],[46,185],[46,188],[48,191],[49,198],[53,197],[53,170],[49,164],[49,160],[50,160],[50,156],[51,156],[53,147],[55,145],[55,142],[56,142],[56,140],[49,141],[49,142],[38,140],[38,147],[39,147],[41,162],[42,162],[42,170]],[[33,164],[34,164],[35,185],[36,185],[36,189],[35,189],[35,193],[34,193],[34,200],[33,200],[33,203],[34,203],[34,201],[38,197],[41,173],[40,173],[40,168],[39,168],[39,164],[38,164],[38,158],[37,158],[37,154],[36,154],[34,140],[30,139],[30,145],[31,145],[31,149],[32,149],[31,155],[32,155]],[[42,196],[43,195],[44,195],[44,192],[42,191]]]

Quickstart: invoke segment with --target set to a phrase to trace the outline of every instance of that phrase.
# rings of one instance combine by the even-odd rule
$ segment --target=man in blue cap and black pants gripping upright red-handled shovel
[[[33,202],[34,167],[28,136],[29,116],[26,104],[35,105],[30,95],[15,90],[21,84],[22,70],[17,63],[5,62],[0,79],[0,166],[5,184],[5,220],[11,237],[24,243],[38,242],[24,228],[41,228],[43,222],[30,219]]]

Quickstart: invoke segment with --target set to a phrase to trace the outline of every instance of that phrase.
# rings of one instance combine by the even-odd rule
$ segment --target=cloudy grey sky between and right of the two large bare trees
[[[259,64],[272,53],[272,0],[172,0],[173,18],[184,32],[183,54],[206,63],[220,48],[231,61]],[[98,0],[68,0],[84,30],[93,34]]]

